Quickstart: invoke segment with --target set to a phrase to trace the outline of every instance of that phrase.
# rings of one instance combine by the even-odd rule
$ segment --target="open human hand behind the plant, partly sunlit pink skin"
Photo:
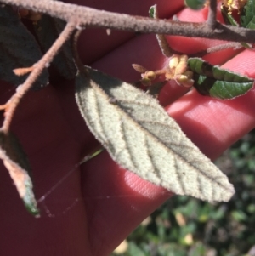
[[[144,7],[144,1],[137,0],[130,7],[127,0],[122,0],[122,4],[117,0],[94,2],[76,3],[144,15],[148,6],[155,3],[148,0]],[[171,1],[156,2],[161,7],[160,16],[167,17],[177,13],[183,1],[174,1],[175,6],[171,6]],[[202,21],[206,14],[206,9],[197,13],[184,9],[178,17]],[[168,39],[176,50],[187,54],[215,45],[201,38]],[[128,82],[139,79],[131,64],[139,63],[156,70],[167,61],[154,36],[133,37],[130,33],[116,31],[110,37],[105,31],[85,31],[79,50],[84,63]],[[218,64],[225,62],[224,68],[255,77],[253,52],[244,50],[231,58],[234,54],[233,50],[224,50],[210,54],[207,60]],[[1,83],[0,102],[3,104],[14,94],[14,87]],[[195,91],[186,92],[186,88],[170,82],[161,92],[161,104],[212,160],[254,127],[254,89],[228,101],[212,100]],[[35,219],[26,212],[1,164],[0,247],[5,255],[109,255],[143,219],[173,196],[120,168],[106,152],[77,165],[98,143],[77,109],[73,82],[57,75],[47,88],[26,95],[11,129],[30,159],[41,218]],[[63,179],[66,174],[69,176]],[[60,179],[61,184],[54,189]]]

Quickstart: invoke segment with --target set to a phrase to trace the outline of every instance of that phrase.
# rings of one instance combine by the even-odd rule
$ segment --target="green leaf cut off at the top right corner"
[[[253,0],[248,0],[241,11],[241,26],[255,29],[255,3]]]

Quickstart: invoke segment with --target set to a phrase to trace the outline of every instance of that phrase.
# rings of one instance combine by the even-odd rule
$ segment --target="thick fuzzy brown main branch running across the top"
[[[184,37],[205,37],[233,42],[255,43],[255,31],[217,23],[215,30],[206,22],[193,23],[171,20],[154,20],[140,16],[116,14],[71,3],[52,0],[0,0],[36,12],[49,14],[62,20],[76,19],[81,26],[104,27],[123,31],[178,35]]]

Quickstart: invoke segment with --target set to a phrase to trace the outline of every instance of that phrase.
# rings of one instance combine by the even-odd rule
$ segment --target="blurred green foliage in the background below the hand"
[[[231,201],[173,196],[111,256],[255,256],[255,130],[216,164],[235,186]]]

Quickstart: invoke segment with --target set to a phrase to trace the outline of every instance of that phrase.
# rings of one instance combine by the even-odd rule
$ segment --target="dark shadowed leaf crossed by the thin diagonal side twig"
[[[44,50],[47,52],[59,34],[65,28],[66,22],[48,15],[42,15],[42,19],[34,24],[38,40]],[[59,54],[54,57],[53,65],[59,71],[59,74],[65,79],[74,79],[77,74],[77,68],[72,58],[71,40],[68,40],[60,49]]]

